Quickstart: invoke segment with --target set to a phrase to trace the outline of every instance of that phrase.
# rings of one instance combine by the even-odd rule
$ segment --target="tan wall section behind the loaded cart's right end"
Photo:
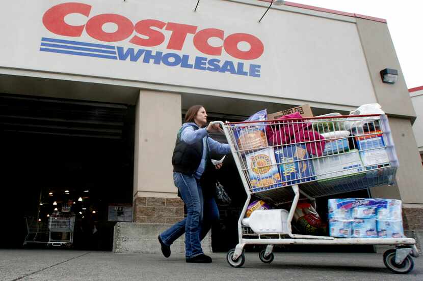
[[[423,166],[409,119],[389,118],[392,138],[400,167],[396,174],[398,186],[372,189],[373,197],[398,198],[405,204],[423,203]]]

